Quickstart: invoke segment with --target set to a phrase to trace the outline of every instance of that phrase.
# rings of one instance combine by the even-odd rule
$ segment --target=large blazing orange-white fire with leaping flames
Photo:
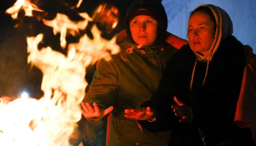
[[[15,18],[19,10],[27,8],[25,4],[38,10],[28,0],[17,0],[7,12]],[[30,16],[28,13],[26,15]],[[84,30],[88,21],[93,21],[85,13],[80,15],[84,16],[84,21],[73,22],[64,14],[57,14],[52,21],[43,21],[51,25],[54,32],[63,33],[63,41],[66,30]],[[28,63],[43,73],[41,89],[44,95],[39,100],[0,98],[0,145],[70,145],[69,136],[77,126],[76,122],[81,119],[80,102],[87,86],[86,67],[96,63],[99,58],[111,59],[108,52],[119,52],[115,37],[111,40],[102,38],[95,25],[91,32],[93,39],[85,34],[78,43],[67,44],[67,55],[54,51],[50,46],[38,49],[43,34],[27,37]],[[62,46],[66,46],[65,43]]]

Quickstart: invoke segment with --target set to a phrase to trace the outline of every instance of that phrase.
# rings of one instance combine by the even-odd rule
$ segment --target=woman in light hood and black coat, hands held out
[[[151,121],[140,122],[152,131],[173,130],[171,146],[253,146],[250,129],[234,123],[246,61],[232,29],[220,7],[194,9],[189,45],[169,60],[147,108],[126,109],[126,117]]]

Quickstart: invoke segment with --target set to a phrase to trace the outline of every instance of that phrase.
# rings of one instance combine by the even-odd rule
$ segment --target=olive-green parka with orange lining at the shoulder
[[[102,109],[114,106],[114,110],[111,112],[111,132],[122,139],[121,141],[134,139],[130,143],[138,143],[139,145],[143,144],[143,141],[156,141],[156,144],[159,142],[155,140],[157,139],[155,133],[140,129],[137,120],[125,118],[124,109],[139,108],[143,102],[150,100],[159,86],[166,61],[183,44],[187,44],[185,40],[170,33],[167,35],[168,39],[164,44],[142,46],[141,48],[138,48],[137,44],[131,43],[128,37],[125,37],[119,41],[120,53],[111,56],[112,59],[109,61],[102,58],[93,76],[84,102],[90,104],[96,102]],[[97,121],[100,118],[87,120]],[[133,135],[136,133],[135,131],[141,135]],[[134,137],[131,137],[132,135]],[[164,141],[164,137],[160,137],[160,141]],[[168,139],[168,136],[166,137]],[[111,141],[120,141],[120,139],[114,138]],[[120,144],[120,142],[117,143]],[[152,142],[149,143],[152,144]]]

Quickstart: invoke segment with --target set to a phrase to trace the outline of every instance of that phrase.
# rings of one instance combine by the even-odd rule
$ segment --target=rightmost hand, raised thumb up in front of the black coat
[[[180,119],[180,122],[192,121],[192,109],[184,103],[180,102],[176,97],[174,97],[174,101],[178,105],[172,105],[171,107],[173,108],[173,112],[175,112],[175,116],[182,117],[182,119]]]

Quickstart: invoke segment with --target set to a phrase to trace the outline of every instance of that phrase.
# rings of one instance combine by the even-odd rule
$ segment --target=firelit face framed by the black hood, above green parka
[[[146,15],[136,16],[130,21],[130,32],[135,43],[149,46],[157,37],[157,21]]]

